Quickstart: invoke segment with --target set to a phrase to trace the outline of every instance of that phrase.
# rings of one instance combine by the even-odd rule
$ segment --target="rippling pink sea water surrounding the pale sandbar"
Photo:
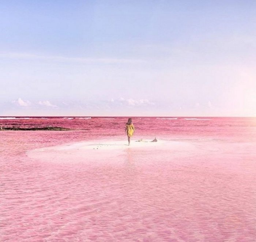
[[[27,155],[126,140],[126,121],[0,119],[1,126],[73,129],[0,131],[0,241],[256,241],[256,118],[133,118],[132,142],[156,136],[192,149],[131,145],[101,162]]]

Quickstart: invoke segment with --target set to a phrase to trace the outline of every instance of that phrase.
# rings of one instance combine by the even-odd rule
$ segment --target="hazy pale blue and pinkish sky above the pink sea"
[[[0,116],[256,116],[254,0],[1,0]]]

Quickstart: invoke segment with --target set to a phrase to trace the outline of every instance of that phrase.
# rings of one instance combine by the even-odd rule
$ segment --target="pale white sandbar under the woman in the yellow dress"
[[[132,140],[128,146],[127,140],[91,140],[39,148],[28,151],[27,156],[46,161],[74,162],[74,160],[106,160],[122,155],[128,150],[160,153],[162,150],[180,153],[194,148],[194,145],[182,141],[143,140],[138,142]]]

